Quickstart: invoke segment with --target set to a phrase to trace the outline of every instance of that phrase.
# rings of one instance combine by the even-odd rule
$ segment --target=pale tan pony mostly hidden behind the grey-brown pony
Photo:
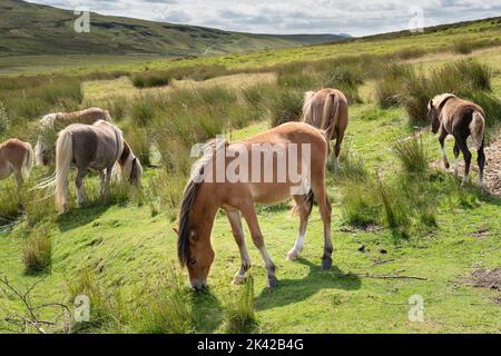
[[[35,146],[38,166],[48,166],[53,161],[56,134],[71,123],[92,125],[99,120],[111,122],[109,111],[90,108],[75,112],[55,112],[46,115],[39,123],[39,136]]]

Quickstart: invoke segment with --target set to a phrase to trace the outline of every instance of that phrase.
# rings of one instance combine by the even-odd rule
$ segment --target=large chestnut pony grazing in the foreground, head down
[[[243,216],[254,245],[266,264],[268,286],[276,286],[275,265],[265,248],[255,205],[277,204],[291,196],[296,201],[301,224],[297,240],[287,255],[288,259],[296,259],[304,247],[313,198],[316,197],[324,225],[322,265],[330,268],[333,246],[331,204],[325,188],[327,156],[328,144],[322,132],[299,122],[282,125],[244,141],[228,144],[223,140],[218,145],[208,144],[205,156],[194,166],[185,189],[176,230],[179,263],[181,267],[187,266],[191,288],[199,289],[207,284],[215,256],[210,234],[219,208],[226,212],[242,258],[242,266],[233,283],[243,281],[250,267],[240,221]],[[285,162],[286,160],[288,162]],[[219,174],[223,171],[224,175],[225,168],[226,171],[235,168],[235,171],[238,170],[237,176],[238,176],[238,179],[220,179],[223,176]],[[292,171],[301,171],[301,177],[311,178],[297,179],[293,177]],[[299,186],[302,188],[296,189]]]

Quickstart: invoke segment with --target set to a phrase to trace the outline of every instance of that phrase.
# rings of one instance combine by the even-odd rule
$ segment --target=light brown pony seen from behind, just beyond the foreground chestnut
[[[307,91],[304,97],[303,122],[327,132],[328,141],[336,140],[335,168],[340,167],[341,144],[348,125],[348,101],[336,89]]]

